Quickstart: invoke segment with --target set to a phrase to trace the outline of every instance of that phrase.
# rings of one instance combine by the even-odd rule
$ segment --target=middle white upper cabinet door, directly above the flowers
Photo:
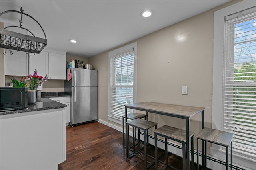
[[[49,76],[49,59],[48,53],[42,51],[40,54],[31,54],[29,57],[29,74],[34,74],[34,70],[37,70],[39,76]]]

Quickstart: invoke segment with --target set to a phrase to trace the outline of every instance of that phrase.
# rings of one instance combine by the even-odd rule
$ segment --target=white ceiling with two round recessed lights
[[[19,11],[22,6],[24,13],[35,18],[44,29],[47,48],[92,57],[228,1],[1,0],[0,5],[1,12]],[[143,10],[152,10],[153,15],[143,18],[140,15]],[[18,26],[20,14],[6,13],[0,19],[9,23],[6,25]],[[34,20],[23,15],[22,21],[22,27],[29,29],[36,37],[44,38],[42,29]],[[20,30],[18,28],[15,32],[22,33]],[[76,39],[77,43],[70,43],[70,39]]]

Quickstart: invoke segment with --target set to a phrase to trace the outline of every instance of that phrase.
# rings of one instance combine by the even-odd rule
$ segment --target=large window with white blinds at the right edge
[[[256,153],[256,11],[225,17],[224,130],[234,133],[235,152]]]

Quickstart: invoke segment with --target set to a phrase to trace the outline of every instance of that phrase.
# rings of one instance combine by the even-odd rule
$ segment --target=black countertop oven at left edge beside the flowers
[[[28,108],[28,88],[0,87],[0,111]]]

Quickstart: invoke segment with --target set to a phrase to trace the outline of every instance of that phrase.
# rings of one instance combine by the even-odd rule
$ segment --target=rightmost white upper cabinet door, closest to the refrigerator
[[[49,78],[66,80],[66,55],[49,53]]]

